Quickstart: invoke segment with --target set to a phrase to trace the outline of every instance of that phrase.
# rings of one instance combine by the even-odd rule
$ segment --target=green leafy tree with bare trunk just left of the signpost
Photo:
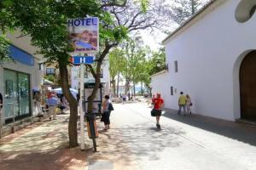
[[[67,65],[70,65],[68,52],[72,51],[72,47],[67,39],[67,19],[80,18],[81,16],[98,16],[105,23],[112,22],[108,11],[103,8],[106,6],[124,6],[125,1],[115,3],[115,1],[95,0],[3,0],[1,1],[1,12],[8,18],[1,17],[1,23],[6,23],[7,28],[22,31],[22,36],[32,37],[32,45],[40,48],[38,53],[43,54],[47,59],[47,63],[57,62],[60,69],[61,88],[70,105],[70,119],[68,124],[69,145],[75,147],[78,145],[78,102],[73,98],[69,90]],[[8,12],[6,12],[8,11]],[[11,20],[11,22],[5,21]],[[102,40],[111,37],[117,31],[106,34],[101,28]],[[108,54],[107,50],[102,53]],[[102,61],[98,63],[101,65]],[[97,68],[98,69],[98,68]],[[97,73],[100,71],[97,71]]]

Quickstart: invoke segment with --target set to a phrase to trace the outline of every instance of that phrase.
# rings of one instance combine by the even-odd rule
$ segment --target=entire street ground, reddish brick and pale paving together
[[[155,127],[146,103],[116,104],[111,128],[97,121],[97,152],[67,147],[68,115],[0,140],[0,169],[243,170],[256,167],[256,127],[167,110]],[[87,137],[87,136],[86,136]]]

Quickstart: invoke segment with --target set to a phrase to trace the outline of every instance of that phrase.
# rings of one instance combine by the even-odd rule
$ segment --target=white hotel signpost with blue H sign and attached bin
[[[91,65],[94,62],[93,56],[82,56],[77,54],[93,54],[99,50],[99,20],[97,17],[78,18],[67,20],[68,39],[73,46],[71,62],[73,65],[80,65],[80,136],[81,150],[84,150],[84,112],[83,111],[83,90],[84,90],[84,65]],[[96,134],[95,119],[86,114],[88,134]],[[90,135],[93,140],[93,147],[96,151],[96,136]]]

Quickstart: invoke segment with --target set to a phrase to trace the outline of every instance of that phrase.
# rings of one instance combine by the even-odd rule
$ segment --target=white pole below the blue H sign
[[[81,137],[81,150],[84,150],[84,111],[83,111],[83,91],[84,91],[84,64],[80,65],[80,99],[79,99],[79,111],[80,111],[80,137]]]

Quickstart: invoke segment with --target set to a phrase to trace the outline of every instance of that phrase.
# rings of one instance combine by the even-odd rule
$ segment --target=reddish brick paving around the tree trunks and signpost
[[[85,150],[68,148],[68,115],[58,115],[55,121],[45,121],[26,127],[0,139],[1,170],[136,170],[131,152],[122,137],[114,139],[114,129],[104,131],[98,122],[99,150],[92,152],[92,142],[85,130]],[[113,126],[112,126],[113,127]]]

